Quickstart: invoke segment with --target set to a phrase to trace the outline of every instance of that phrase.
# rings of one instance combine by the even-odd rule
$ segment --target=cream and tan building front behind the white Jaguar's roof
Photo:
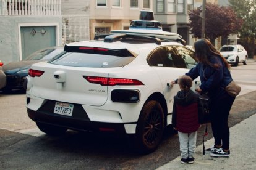
[[[139,19],[140,10],[152,10],[153,0],[91,0],[90,39],[110,30],[129,29]]]

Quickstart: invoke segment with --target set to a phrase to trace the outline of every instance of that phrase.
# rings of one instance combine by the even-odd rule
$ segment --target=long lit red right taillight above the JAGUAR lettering
[[[90,83],[101,84],[102,86],[116,86],[116,85],[126,85],[126,86],[139,86],[144,85],[141,81],[137,79],[126,79],[126,78],[104,78],[97,76],[83,76]]]

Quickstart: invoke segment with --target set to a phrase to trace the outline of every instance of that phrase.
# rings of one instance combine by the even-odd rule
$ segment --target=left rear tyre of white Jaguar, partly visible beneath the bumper
[[[54,126],[51,124],[44,124],[36,122],[36,126],[40,129],[40,131],[51,135],[51,136],[59,136],[61,134],[64,134],[67,129],[64,127]]]

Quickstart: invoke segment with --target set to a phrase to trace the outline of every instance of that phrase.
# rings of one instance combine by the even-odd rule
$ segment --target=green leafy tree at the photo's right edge
[[[229,3],[236,11],[237,16],[243,20],[239,30],[240,39],[245,45],[249,57],[252,58],[256,44],[256,0],[229,0]]]

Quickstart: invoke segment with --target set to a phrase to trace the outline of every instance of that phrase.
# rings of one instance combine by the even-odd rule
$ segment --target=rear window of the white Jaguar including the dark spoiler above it
[[[65,46],[65,52],[49,63],[74,67],[122,67],[132,62],[135,56],[127,49]]]

